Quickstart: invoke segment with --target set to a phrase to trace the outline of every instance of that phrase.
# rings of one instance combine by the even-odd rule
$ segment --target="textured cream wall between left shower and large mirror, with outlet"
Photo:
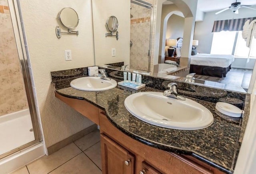
[[[54,97],[50,71],[94,64],[90,0],[21,0],[30,62],[40,109],[46,147],[85,129],[93,123]],[[64,7],[76,10],[79,35],[55,34],[58,12]],[[65,31],[62,28],[62,31]],[[103,33],[104,34],[104,33]],[[72,51],[65,61],[64,50]]]

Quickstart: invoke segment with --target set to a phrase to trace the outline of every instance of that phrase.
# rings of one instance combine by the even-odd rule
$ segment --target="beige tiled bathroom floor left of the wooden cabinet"
[[[100,132],[93,131],[50,156],[42,156],[11,174],[102,174]]]

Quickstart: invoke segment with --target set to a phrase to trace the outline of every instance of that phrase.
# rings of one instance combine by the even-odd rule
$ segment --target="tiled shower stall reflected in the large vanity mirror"
[[[130,68],[150,71],[154,0],[146,1],[131,0]]]

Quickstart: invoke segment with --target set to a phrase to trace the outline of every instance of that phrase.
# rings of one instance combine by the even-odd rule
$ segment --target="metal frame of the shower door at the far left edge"
[[[36,102],[36,92],[34,89],[34,83],[32,81],[33,75],[32,70],[29,62],[29,54],[28,54],[28,45],[24,30],[24,23],[22,20],[22,13],[21,13],[21,6],[20,0],[8,0],[10,15],[12,19],[12,26],[14,30],[14,36],[16,41],[16,46],[18,50],[18,57],[20,59],[20,67],[22,71],[22,76],[24,80],[24,86],[26,90],[26,96],[28,100],[28,106],[31,116],[31,121],[33,125],[33,132],[35,140],[29,143],[26,143],[16,149],[13,149],[9,152],[4,154],[0,154],[0,159],[9,156],[15,152],[21,151],[30,147],[31,145],[36,145],[42,141],[42,132],[40,126],[40,119],[38,117],[39,111],[37,109],[37,102]]]

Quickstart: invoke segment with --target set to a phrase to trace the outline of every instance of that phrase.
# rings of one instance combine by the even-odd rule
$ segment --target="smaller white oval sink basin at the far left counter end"
[[[70,82],[70,86],[83,91],[105,91],[115,88],[116,80],[103,80],[100,77],[81,77]]]

